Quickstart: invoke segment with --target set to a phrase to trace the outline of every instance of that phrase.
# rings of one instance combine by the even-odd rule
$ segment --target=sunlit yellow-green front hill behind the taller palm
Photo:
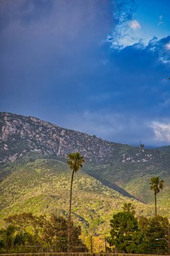
[[[36,160],[25,164],[11,163],[1,167],[9,175],[1,181],[1,218],[20,212],[67,216],[71,170],[58,160]],[[103,185],[83,170],[73,183],[73,218],[83,232],[107,232],[110,218],[122,209],[124,202],[136,205],[136,214],[151,215],[152,207],[124,197]]]

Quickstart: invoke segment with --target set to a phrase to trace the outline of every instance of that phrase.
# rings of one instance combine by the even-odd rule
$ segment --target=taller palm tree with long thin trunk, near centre
[[[73,170],[71,177],[71,191],[70,191],[70,207],[69,207],[69,228],[68,228],[68,241],[67,241],[67,252],[69,253],[70,246],[70,230],[71,230],[71,203],[72,203],[72,187],[73,187],[73,177],[75,172],[79,170],[79,168],[83,167],[83,163],[85,162],[83,156],[80,156],[79,152],[69,154],[67,156],[69,159],[67,164],[69,164],[70,168]]]

